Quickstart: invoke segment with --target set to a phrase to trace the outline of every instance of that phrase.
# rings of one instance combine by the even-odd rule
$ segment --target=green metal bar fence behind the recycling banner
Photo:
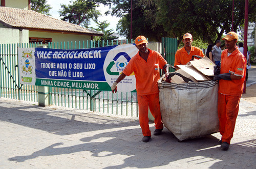
[[[49,43],[48,48],[81,49],[103,47],[104,45],[127,44],[126,41],[82,41]],[[18,47],[42,47],[45,44],[0,44],[0,96],[10,99],[38,102],[37,86],[20,85],[18,80]],[[177,50],[177,39],[163,38],[162,48],[166,61],[174,63]],[[86,109],[118,116],[138,117],[138,102],[136,93],[110,91],[78,90],[65,88],[49,88],[50,104]]]

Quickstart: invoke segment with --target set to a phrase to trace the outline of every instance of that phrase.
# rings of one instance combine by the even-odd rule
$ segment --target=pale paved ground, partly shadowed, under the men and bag
[[[143,143],[138,119],[0,98],[0,168],[256,168],[256,104],[244,99],[228,151],[219,133],[178,142],[150,126]]]

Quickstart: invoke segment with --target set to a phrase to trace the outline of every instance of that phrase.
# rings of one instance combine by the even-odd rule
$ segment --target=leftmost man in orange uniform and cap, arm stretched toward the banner
[[[156,130],[154,135],[160,135],[163,129],[157,81],[160,78],[160,69],[163,69],[167,62],[160,53],[147,48],[147,40],[144,36],[138,36],[135,44],[139,49],[138,53],[130,60],[111,89],[115,93],[117,83],[134,72],[139,103],[139,121],[144,136],[142,141],[148,142],[151,138],[150,126],[148,125],[148,106],[155,118]]]

